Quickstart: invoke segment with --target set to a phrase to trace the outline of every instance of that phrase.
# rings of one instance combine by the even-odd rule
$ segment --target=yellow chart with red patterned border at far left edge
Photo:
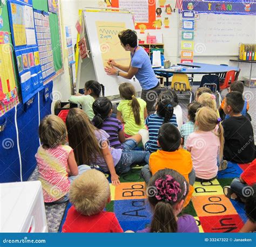
[[[8,32],[0,32],[0,116],[18,104]]]

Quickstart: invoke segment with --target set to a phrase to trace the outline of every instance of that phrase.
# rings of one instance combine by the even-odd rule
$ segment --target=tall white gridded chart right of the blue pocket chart
[[[42,11],[39,10],[34,10],[34,15],[39,51],[36,63],[41,63],[43,81],[46,81],[49,77],[56,74],[53,63],[49,14],[42,13]]]

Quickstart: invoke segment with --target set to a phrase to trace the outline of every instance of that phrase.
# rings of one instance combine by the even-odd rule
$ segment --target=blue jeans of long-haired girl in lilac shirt
[[[116,167],[116,173],[122,174],[129,172],[132,164],[145,163],[149,164],[150,153],[146,151],[134,151],[134,150],[124,150],[122,151],[122,156],[118,161]]]

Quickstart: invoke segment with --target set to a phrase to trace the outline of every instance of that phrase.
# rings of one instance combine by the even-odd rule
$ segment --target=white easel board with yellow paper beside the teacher
[[[128,12],[84,11],[84,20],[93,66],[89,59],[84,59],[87,61],[84,62],[83,60],[86,66],[83,66],[84,71],[82,73],[85,76],[91,75],[91,77],[95,74],[96,80],[105,86],[105,96],[119,95],[118,88],[123,82],[131,82],[136,91],[141,91],[142,88],[136,79],[127,80],[121,76],[107,75],[104,71],[106,61],[109,58],[115,59],[117,63],[130,65],[130,52],[126,52],[121,46],[118,32],[124,29],[134,30],[132,14]],[[80,87],[83,88],[85,82],[83,76],[79,78],[79,81],[82,83]]]

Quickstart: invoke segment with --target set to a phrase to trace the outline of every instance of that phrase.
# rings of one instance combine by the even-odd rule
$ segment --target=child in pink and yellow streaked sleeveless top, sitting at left
[[[65,145],[66,136],[64,122],[55,115],[46,116],[39,125],[42,145],[38,147],[35,157],[44,202],[68,201],[70,183],[90,169],[86,165],[77,167],[73,149]]]

